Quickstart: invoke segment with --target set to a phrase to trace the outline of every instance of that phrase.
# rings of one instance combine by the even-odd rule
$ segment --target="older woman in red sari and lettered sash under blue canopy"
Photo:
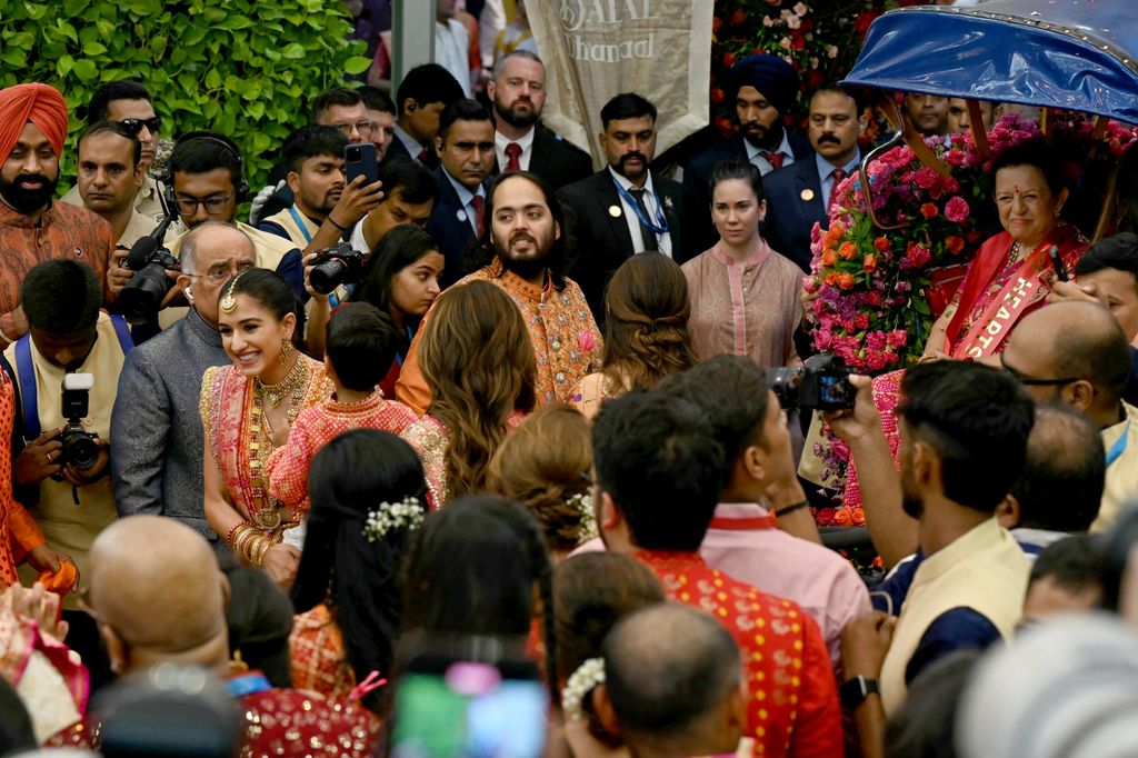
[[[932,327],[925,357],[995,364],[1020,319],[1044,305],[1056,266],[1072,273],[1087,249],[1079,230],[1059,219],[1067,190],[1049,147],[1025,142],[1009,148],[996,158],[992,173],[1004,231],[986,240],[972,259]]]

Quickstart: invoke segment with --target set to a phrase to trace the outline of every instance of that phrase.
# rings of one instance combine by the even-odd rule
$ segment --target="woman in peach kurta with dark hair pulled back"
[[[719,241],[683,266],[695,355],[747,355],[764,368],[798,363],[793,337],[802,320],[802,272],[759,234],[766,215],[759,172],[729,160],[711,181]]]

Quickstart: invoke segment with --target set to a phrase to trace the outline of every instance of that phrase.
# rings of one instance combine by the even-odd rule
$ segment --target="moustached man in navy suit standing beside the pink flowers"
[[[853,96],[836,84],[827,84],[810,98],[809,124],[813,158],[762,179],[767,196],[762,236],[802,271],[810,270],[810,230],[816,222],[823,229],[830,226],[834,188],[861,160],[857,141],[865,132],[866,116]]]

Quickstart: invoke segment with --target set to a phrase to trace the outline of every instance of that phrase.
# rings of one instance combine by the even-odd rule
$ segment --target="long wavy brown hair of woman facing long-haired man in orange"
[[[534,346],[518,306],[485,281],[440,295],[423,329],[427,412],[446,427],[447,486],[459,497],[484,488],[510,414],[534,409]]]

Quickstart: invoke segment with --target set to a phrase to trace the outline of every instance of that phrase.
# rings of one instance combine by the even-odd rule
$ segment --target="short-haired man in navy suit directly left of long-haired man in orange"
[[[427,231],[446,259],[438,283],[450,287],[465,275],[467,247],[481,236],[484,182],[494,165],[494,122],[477,100],[459,100],[439,116],[435,146],[439,193]]]

